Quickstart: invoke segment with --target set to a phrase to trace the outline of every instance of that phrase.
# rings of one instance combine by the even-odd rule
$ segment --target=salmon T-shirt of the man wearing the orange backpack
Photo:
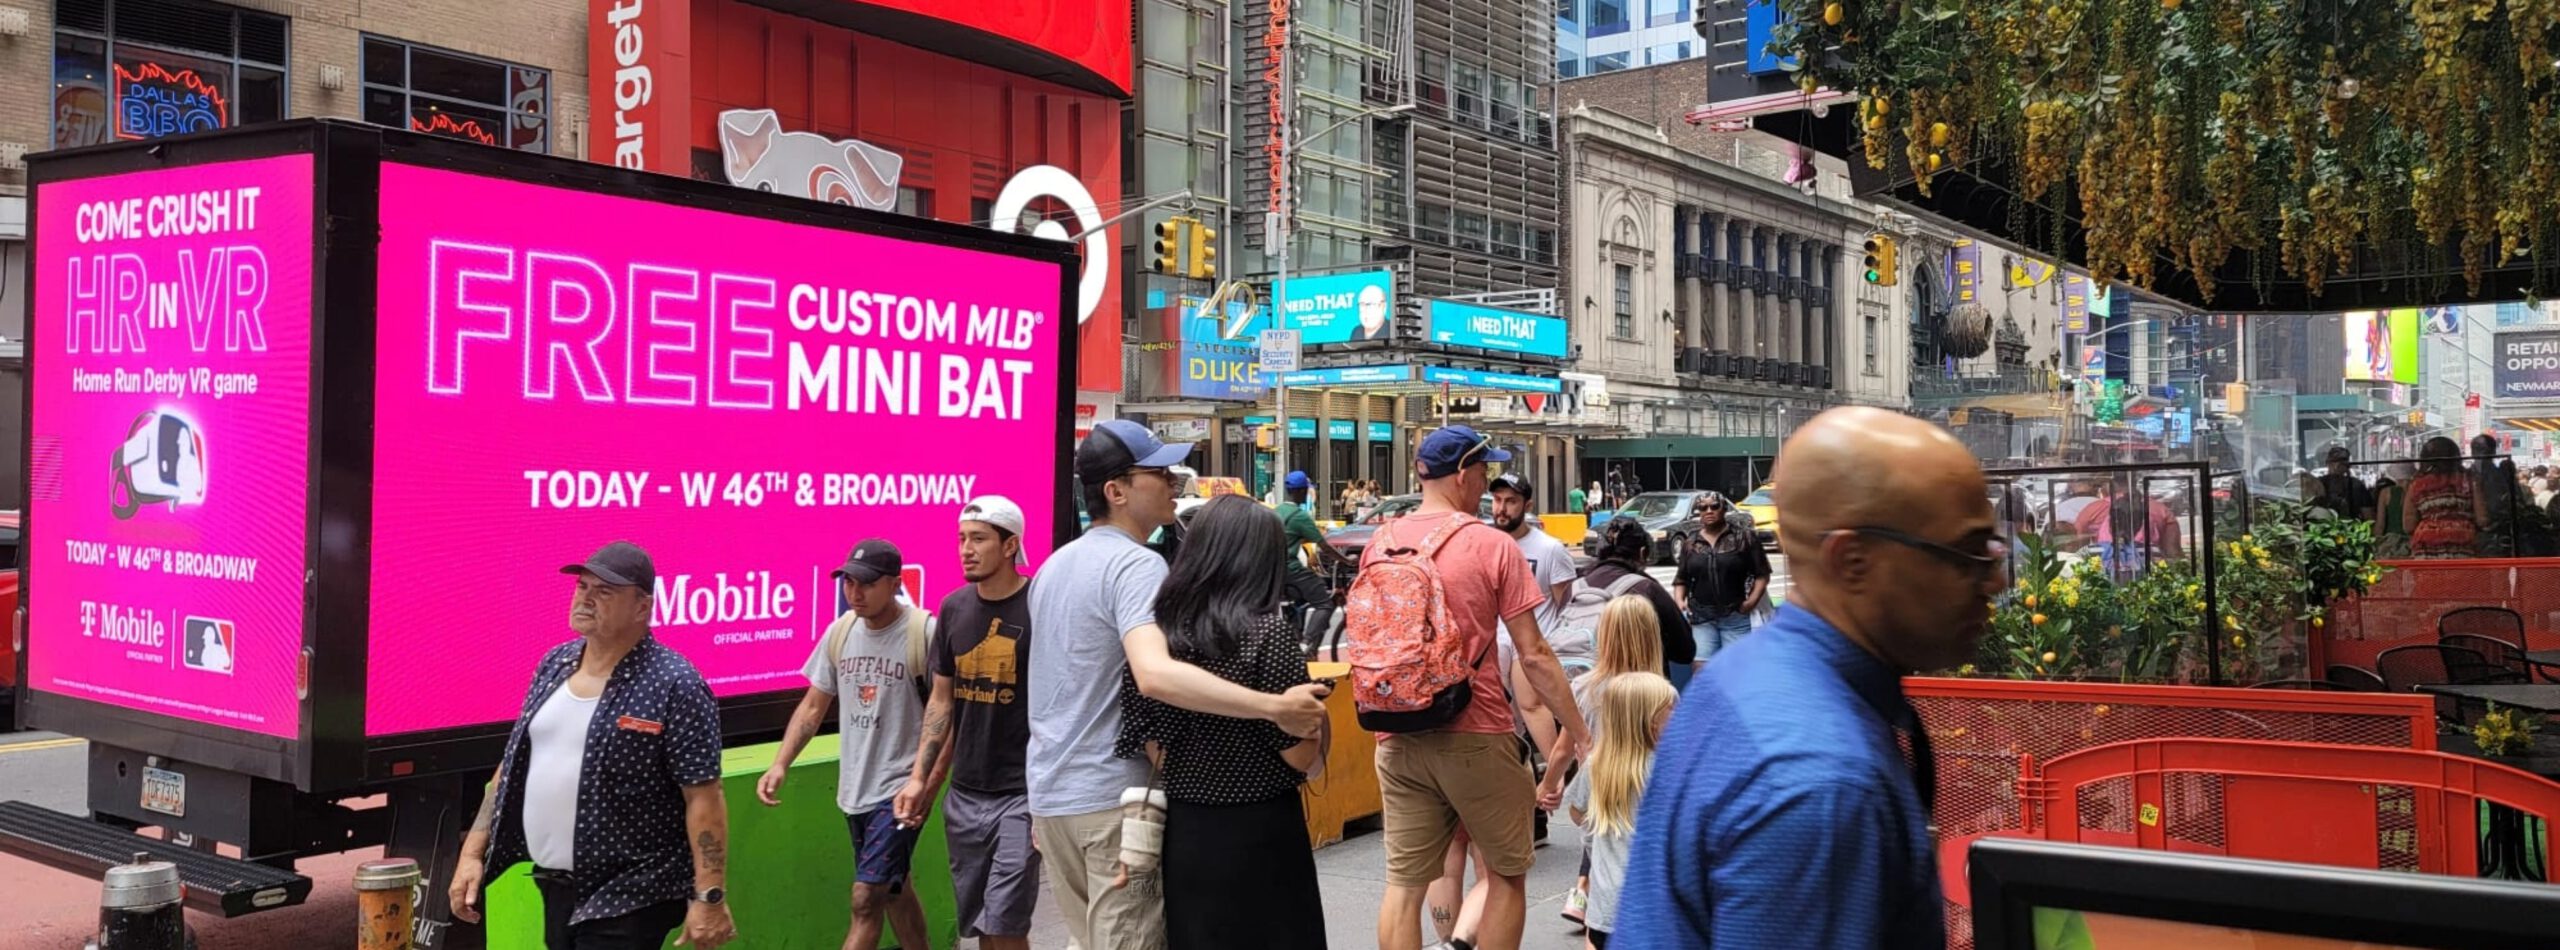
[[[1431,533],[1449,525],[1452,517],[1475,520],[1475,515],[1464,512],[1398,517],[1370,538],[1370,548],[1359,556],[1359,566],[1367,568],[1370,563],[1385,561],[1388,548],[1421,548],[1423,540],[1431,540]],[[1521,556],[1521,545],[1485,522],[1457,527],[1449,540],[1441,543],[1431,566],[1439,568],[1441,576],[1449,622],[1467,632],[1467,658],[1482,658],[1475,666],[1475,704],[1469,704],[1457,722],[1449,722],[1446,732],[1508,735],[1513,727],[1510,699],[1503,691],[1503,663],[1495,661],[1492,643],[1505,635],[1505,617],[1518,617],[1546,604],[1546,589],[1528,576],[1528,558]]]

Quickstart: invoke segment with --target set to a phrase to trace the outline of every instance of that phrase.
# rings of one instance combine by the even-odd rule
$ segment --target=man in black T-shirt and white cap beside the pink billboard
[[[940,635],[927,653],[934,676],[924,704],[924,748],[899,791],[899,819],[914,827],[942,796],[942,837],[952,858],[960,937],[980,950],[1029,950],[1039,901],[1039,850],[1021,755],[1032,745],[1024,681],[1032,671],[1032,599],[1021,576],[1021,507],[986,494],[960,507],[960,579],[942,597]]]

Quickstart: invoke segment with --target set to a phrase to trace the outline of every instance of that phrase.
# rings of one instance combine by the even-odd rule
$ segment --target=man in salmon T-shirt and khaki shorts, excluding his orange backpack
[[[1518,950],[1528,909],[1526,876],[1533,860],[1531,812],[1541,796],[1528,761],[1518,755],[1503,666],[1492,663],[1495,627],[1510,632],[1518,663],[1539,699],[1556,709],[1567,735],[1549,753],[1551,794],[1562,794],[1562,766],[1590,748],[1582,712],[1564,684],[1564,666],[1539,632],[1536,612],[1546,589],[1528,576],[1521,545],[1482,530],[1475,504],[1485,494],[1485,463],[1510,461],[1508,451],[1464,425],[1446,425],[1416,448],[1423,502],[1395,525],[1377,530],[1362,556],[1367,574],[1390,551],[1428,551],[1441,607],[1464,635],[1475,663],[1469,702],[1446,727],[1390,732],[1377,740],[1377,786],[1388,830],[1388,894],[1377,906],[1377,947],[1418,950],[1423,889],[1441,876],[1441,858],[1459,825],[1485,853],[1492,886],[1477,945]],[[1431,548],[1439,543],[1439,548]],[[1354,625],[1362,617],[1352,617]]]

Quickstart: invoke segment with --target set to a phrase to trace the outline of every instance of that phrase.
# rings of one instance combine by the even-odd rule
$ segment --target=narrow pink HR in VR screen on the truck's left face
[[[36,187],[28,686],[292,737],[312,159]]]

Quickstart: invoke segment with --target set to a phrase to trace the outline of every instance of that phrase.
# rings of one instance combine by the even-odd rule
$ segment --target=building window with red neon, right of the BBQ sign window
[[[550,151],[550,69],[364,38],[364,120],[515,151]]]

